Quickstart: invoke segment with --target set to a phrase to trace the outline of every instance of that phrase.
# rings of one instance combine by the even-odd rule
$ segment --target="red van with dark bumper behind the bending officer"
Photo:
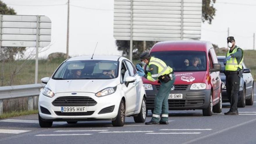
[[[150,55],[165,61],[174,70],[176,79],[168,97],[169,110],[202,109],[205,116],[221,113],[221,65],[210,42],[158,42],[150,50]],[[160,84],[145,78],[143,84],[147,110],[153,110]]]

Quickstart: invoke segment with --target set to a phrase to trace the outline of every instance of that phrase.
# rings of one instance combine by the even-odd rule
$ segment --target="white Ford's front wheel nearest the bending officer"
[[[123,100],[120,102],[116,119],[112,120],[112,125],[114,127],[122,127],[125,125],[125,102]]]

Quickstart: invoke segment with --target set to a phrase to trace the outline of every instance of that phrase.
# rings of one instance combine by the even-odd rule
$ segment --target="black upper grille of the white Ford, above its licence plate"
[[[97,102],[90,97],[58,97],[52,104],[54,106],[94,106]]]

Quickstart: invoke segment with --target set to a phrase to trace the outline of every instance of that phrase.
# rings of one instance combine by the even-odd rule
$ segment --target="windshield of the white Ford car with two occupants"
[[[84,60],[64,62],[53,79],[114,79],[118,77],[117,61]]]

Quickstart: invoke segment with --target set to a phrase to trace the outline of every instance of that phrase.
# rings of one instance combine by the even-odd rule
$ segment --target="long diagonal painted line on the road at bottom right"
[[[254,122],[254,121],[256,121],[256,118],[253,119],[253,120],[249,120],[249,121],[243,122],[243,123],[238,124],[238,125],[234,125],[234,126],[232,126],[232,127],[227,127],[227,128],[225,128],[225,129],[216,131],[216,132],[214,132],[214,133],[211,133],[211,134],[208,134],[208,135],[199,137],[199,138],[195,138],[195,139],[193,139],[193,140],[187,141],[187,142],[182,143],[182,144],[193,143],[193,142],[195,142],[195,141],[199,141],[199,140],[202,140],[202,139],[204,139],[204,138],[208,138],[208,137],[210,137],[210,136],[214,136],[214,135],[216,135],[216,134],[220,134],[220,133],[222,133],[222,132],[224,132],[224,131],[228,131],[228,130],[230,130],[230,129],[237,128],[237,127],[240,127],[240,126],[242,126],[242,125],[246,125],[246,124],[248,124],[248,123],[250,123],[250,122]]]

